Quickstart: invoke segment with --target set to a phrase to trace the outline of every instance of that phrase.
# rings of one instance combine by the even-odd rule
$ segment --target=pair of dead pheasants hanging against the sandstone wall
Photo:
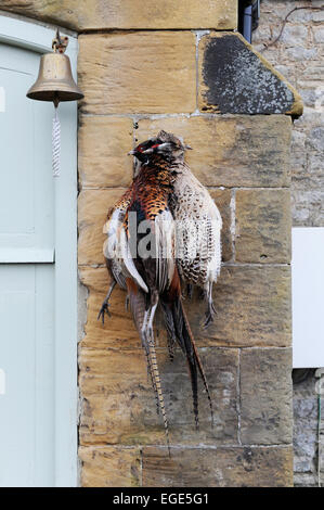
[[[178,343],[187,360],[196,426],[198,373],[212,419],[207,380],[182,304],[182,286],[189,293],[192,285],[203,290],[207,326],[215,313],[212,284],[221,267],[222,220],[208,191],[184,163],[187,149],[173,135],[160,131],[130,152],[137,158],[133,181],[109,211],[105,225],[104,254],[112,282],[99,314],[103,321],[105,313],[109,314],[108,301],[116,283],[127,290],[167,441],[168,422],[154,342],[157,306],[163,313],[171,358]]]

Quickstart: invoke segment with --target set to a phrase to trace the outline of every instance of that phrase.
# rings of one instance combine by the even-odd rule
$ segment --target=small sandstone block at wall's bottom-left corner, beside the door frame
[[[139,448],[80,447],[82,487],[139,487],[141,454]]]

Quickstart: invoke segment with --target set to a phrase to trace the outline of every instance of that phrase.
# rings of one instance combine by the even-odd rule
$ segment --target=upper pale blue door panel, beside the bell
[[[0,113],[0,259],[1,250],[53,250],[54,244],[53,106],[26,98],[38,65],[37,53],[0,43],[0,86],[5,97]]]

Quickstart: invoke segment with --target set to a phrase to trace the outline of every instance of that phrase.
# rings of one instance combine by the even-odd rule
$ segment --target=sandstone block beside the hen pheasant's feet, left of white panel
[[[199,345],[290,346],[290,268],[223,266],[213,292],[217,315],[202,328],[206,303],[185,301]]]

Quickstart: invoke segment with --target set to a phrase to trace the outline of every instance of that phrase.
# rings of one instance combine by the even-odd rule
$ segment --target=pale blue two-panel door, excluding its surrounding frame
[[[0,44],[0,485],[53,483],[54,194],[39,55]]]

